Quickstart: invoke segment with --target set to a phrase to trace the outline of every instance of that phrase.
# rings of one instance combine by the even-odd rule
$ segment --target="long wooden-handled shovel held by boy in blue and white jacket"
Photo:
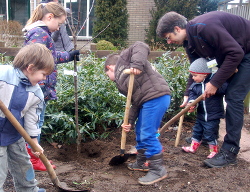
[[[25,129],[22,127],[22,125],[16,120],[16,118],[12,115],[12,113],[9,111],[9,109],[4,105],[4,103],[0,100],[0,109],[1,111],[4,113],[4,115],[6,116],[6,118],[12,123],[12,125],[16,128],[16,130],[22,135],[22,137],[26,140],[26,142],[31,146],[33,151],[40,151],[40,149],[37,147],[36,143],[30,138],[30,136],[28,135],[28,133],[25,131]],[[54,186],[58,189],[58,191],[65,191],[65,192],[70,192],[70,191],[78,191],[78,192],[88,192],[90,190],[74,190],[71,189],[69,187],[67,187],[66,183],[61,183],[59,181],[59,179],[56,176],[55,170],[53,169],[53,167],[51,166],[49,160],[47,159],[47,157],[41,153],[39,155],[39,158],[41,159],[41,161],[43,162],[43,164],[45,165],[50,179],[52,181],[52,183],[54,184]]]

